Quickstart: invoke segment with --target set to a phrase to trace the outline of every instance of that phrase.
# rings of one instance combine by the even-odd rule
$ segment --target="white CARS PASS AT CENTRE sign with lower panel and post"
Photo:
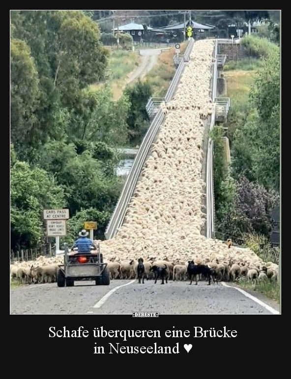
[[[43,218],[47,221],[48,237],[56,238],[56,254],[59,252],[59,237],[67,234],[66,220],[69,219],[68,209],[44,209]]]

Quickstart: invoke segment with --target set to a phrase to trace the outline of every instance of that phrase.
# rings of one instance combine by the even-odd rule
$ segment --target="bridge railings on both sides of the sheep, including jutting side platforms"
[[[130,173],[128,174],[126,181],[124,183],[121,195],[116,204],[115,211],[111,217],[111,220],[107,226],[105,237],[107,240],[111,240],[116,236],[119,228],[125,220],[125,216],[130,206],[130,202],[137,186],[139,179],[142,177],[142,170],[147,161],[151,156],[151,147],[153,146],[157,135],[159,134],[160,127],[163,125],[166,114],[165,109],[171,104],[171,100],[175,96],[181,78],[187,67],[187,64],[191,61],[191,56],[195,55],[195,45],[191,39],[188,42],[185,54],[181,57],[178,63],[175,76],[171,82],[168,92],[164,98],[151,98],[149,99],[146,110],[148,116],[151,120],[151,124],[147,130],[147,133],[143,139],[143,142],[137,152],[136,158],[133,162]],[[215,40],[214,48],[212,52],[212,66],[211,66],[211,80],[209,82],[209,93],[211,94],[212,103],[214,104],[214,111],[210,117],[207,117],[204,121],[205,131],[204,131],[204,162],[203,162],[203,172],[202,177],[206,184],[205,191],[205,208],[206,208],[206,223],[203,230],[203,234],[207,238],[213,238],[215,233],[214,225],[214,189],[213,189],[213,141],[208,138],[208,130],[212,129],[217,120],[225,118],[228,114],[230,101],[228,98],[219,98],[217,96],[217,75],[219,69],[223,67],[226,62],[224,55],[218,55],[218,43],[219,40]],[[217,111],[216,111],[217,110]],[[203,206],[203,204],[202,204]]]

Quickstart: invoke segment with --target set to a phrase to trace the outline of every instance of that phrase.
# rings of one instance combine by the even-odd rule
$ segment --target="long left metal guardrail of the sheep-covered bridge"
[[[187,46],[187,49],[185,51],[185,56],[188,60],[190,60],[190,52],[193,48],[194,40],[190,40]],[[181,73],[183,72],[183,69],[185,67],[185,62],[181,61],[176,72],[175,76],[171,82],[171,85],[167,91],[167,94],[165,96],[165,101],[170,101],[175,94],[177,85],[180,80]],[[135,189],[135,186],[137,184],[137,181],[139,179],[141,170],[143,168],[143,165],[145,163],[146,157],[148,155],[150,146],[158,132],[158,129],[161,125],[161,123],[164,120],[165,115],[163,114],[161,108],[159,108],[155,118],[153,119],[151,125],[149,126],[147,133],[143,139],[143,142],[138,150],[138,153],[136,155],[136,158],[133,162],[133,165],[131,167],[130,173],[128,174],[126,181],[124,183],[121,195],[119,197],[119,200],[116,204],[116,208],[114,210],[114,213],[111,217],[111,220],[109,221],[109,224],[107,226],[107,229],[105,231],[105,238],[111,239],[115,236],[118,228],[122,225],[122,222],[124,220],[126,210],[128,203],[132,197],[133,191]]]

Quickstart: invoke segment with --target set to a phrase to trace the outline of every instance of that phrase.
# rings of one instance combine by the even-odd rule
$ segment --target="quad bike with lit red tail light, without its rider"
[[[103,263],[98,244],[92,253],[69,253],[64,245],[64,264],[59,265],[57,273],[58,287],[72,287],[75,281],[95,281],[96,285],[109,285],[110,273],[107,263]]]

